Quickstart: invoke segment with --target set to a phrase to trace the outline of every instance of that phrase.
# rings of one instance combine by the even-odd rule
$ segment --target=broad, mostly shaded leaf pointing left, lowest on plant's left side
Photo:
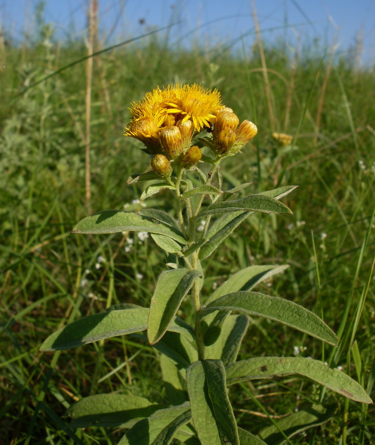
[[[149,417],[163,405],[143,397],[123,394],[97,394],[73,403],[66,411],[70,428],[112,426],[130,428],[139,419]]]

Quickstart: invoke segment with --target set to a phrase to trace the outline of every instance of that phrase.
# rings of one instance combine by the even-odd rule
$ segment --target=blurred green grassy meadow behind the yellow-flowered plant
[[[358,63],[361,46],[337,53],[319,39],[291,45],[282,35],[250,47],[238,36],[171,45],[171,22],[109,49],[94,14],[87,33],[72,39],[55,37],[42,3],[33,14],[35,27],[21,42],[0,35],[0,444],[115,444],[123,431],[69,429],[66,409],[111,391],[166,401],[146,344],[115,337],[53,354],[39,347],[66,322],[109,304],[149,305],[164,267],[151,238],[69,233],[88,213],[140,208],[141,186],[126,179],[146,171],[149,158],[122,135],[127,107],[175,82],[218,88],[240,121],[258,126],[253,144],[223,163],[227,187],[299,185],[284,200],[292,216],[252,216],[203,263],[205,295],[243,267],[288,264],[258,290],[319,314],[342,339],[336,349],[254,318],[240,357],[321,358],[371,393],[375,72],[374,61]],[[293,135],[293,143],[278,145],[273,132]],[[171,211],[169,202],[167,192],[145,201]],[[188,301],[185,310],[189,316]],[[293,376],[230,392],[238,423],[253,433],[320,396],[318,385]],[[327,391],[324,402],[331,401],[338,402],[333,419],[290,444],[375,443],[373,405]]]

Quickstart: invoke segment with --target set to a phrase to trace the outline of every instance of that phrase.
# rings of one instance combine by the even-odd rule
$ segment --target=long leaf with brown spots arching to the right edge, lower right
[[[257,357],[231,363],[226,367],[228,385],[239,381],[290,374],[308,377],[348,399],[372,403],[366,391],[353,378],[312,358]]]

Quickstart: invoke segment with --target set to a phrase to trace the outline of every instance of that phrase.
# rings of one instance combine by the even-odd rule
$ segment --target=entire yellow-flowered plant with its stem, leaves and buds
[[[189,102],[189,98],[194,100]],[[145,183],[141,200],[161,190],[169,193],[175,203],[175,215],[153,208],[143,208],[138,213],[106,210],[85,218],[73,229],[76,234],[149,232],[156,245],[166,252],[166,269],[156,281],[149,308],[123,304],[88,315],[50,335],[41,350],[67,349],[116,335],[146,341],[159,357],[169,405],[132,395],[93,395],[69,408],[71,427],[126,428],[119,445],[167,445],[173,439],[202,445],[279,444],[309,427],[327,422],[336,404],[312,404],[311,408],[273,423],[255,436],[237,425],[228,393],[230,385],[299,375],[353,401],[372,402],[348,375],[314,359],[237,360],[249,323],[259,316],[337,345],[337,336],[313,312],[291,300],[253,290],[288,266],[246,267],[227,277],[202,301],[201,261],[254,212],[290,215],[291,210],[280,200],[295,188],[284,186],[247,196],[243,194],[250,183],[222,190],[219,164],[226,156],[239,156],[237,149],[230,151],[234,140],[235,146],[242,148],[256,134],[255,125],[248,121],[241,124],[241,131],[236,130],[238,118],[227,111],[230,109],[221,112],[216,123],[215,113],[223,109],[217,91],[205,91],[199,86],[154,90],[143,102],[133,104],[133,120],[127,134],[144,142],[151,156],[167,156],[168,175],[136,174],[128,179],[128,184]],[[146,111],[148,114],[142,115]],[[230,125],[226,126],[228,116]],[[191,124],[185,128],[183,124],[187,121]],[[161,144],[158,132],[165,128],[165,122],[173,131],[163,130]],[[199,138],[200,148],[204,151],[202,145],[207,147],[201,157],[200,148],[193,145],[199,155],[194,158],[197,165],[180,162],[189,150],[186,144],[194,144],[193,126],[197,135],[212,122],[214,136]],[[169,175],[171,169],[175,173]],[[198,227],[202,219],[205,224]],[[194,319],[185,310],[191,301]]]

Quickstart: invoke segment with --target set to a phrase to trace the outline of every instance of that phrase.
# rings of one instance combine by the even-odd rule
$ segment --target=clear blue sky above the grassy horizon
[[[89,0],[45,0],[44,20],[56,36],[83,36]],[[0,29],[22,40],[32,30],[37,0],[0,0]],[[251,0],[98,0],[99,28],[106,44],[144,33],[150,27],[179,21],[170,42],[198,41],[203,45],[254,42]],[[375,61],[374,0],[255,0],[262,36],[267,41],[287,37],[295,43],[319,38],[323,46],[337,39],[338,52],[355,45],[362,33],[364,63]],[[187,37],[188,36],[188,37]],[[238,44],[240,47],[242,44]]]

